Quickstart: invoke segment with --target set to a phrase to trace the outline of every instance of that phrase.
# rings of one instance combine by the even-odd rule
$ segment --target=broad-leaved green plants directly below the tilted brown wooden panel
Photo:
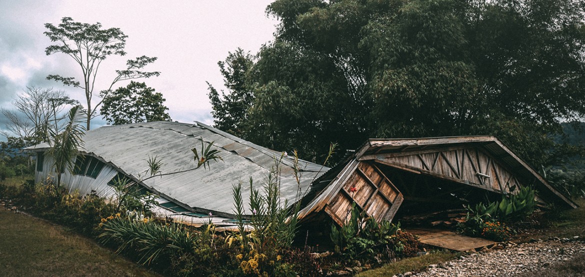
[[[392,224],[386,220],[378,223],[373,217],[365,217],[355,203],[350,213],[349,220],[343,226],[331,226],[329,237],[335,245],[336,253],[352,260],[364,257],[371,259],[384,251],[389,255],[406,254],[404,244],[397,236],[400,223]]]

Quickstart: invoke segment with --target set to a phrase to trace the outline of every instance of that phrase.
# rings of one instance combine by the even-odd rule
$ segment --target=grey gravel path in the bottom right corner
[[[542,271],[551,265],[585,254],[583,238],[552,238],[511,245],[503,250],[477,252],[443,265],[430,265],[425,272],[402,276],[515,276]],[[401,275],[398,275],[399,277]]]

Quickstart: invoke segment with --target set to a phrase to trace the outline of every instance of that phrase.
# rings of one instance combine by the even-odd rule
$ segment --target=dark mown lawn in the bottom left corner
[[[89,238],[0,206],[0,276],[159,276]]]

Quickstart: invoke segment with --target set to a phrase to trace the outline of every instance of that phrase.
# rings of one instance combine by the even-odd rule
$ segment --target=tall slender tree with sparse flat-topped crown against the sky
[[[61,77],[60,75],[49,75],[47,79],[62,82],[64,85],[84,89],[85,100],[87,101],[87,123],[86,129],[90,130],[91,119],[97,116],[96,110],[102,101],[92,105],[94,96],[94,85],[98,74],[99,65],[108,56],[125,56],[126,34],[119,28],[102,29],[101,23],[88,24],[74,22],[72,18],[63,18],[61,23],[54,26],[51,23],[44,25],[48,30],[44,34],[49,37],[53,44],[46,48],[47,55],[53,53],[64,53],[73,58],[75,63],[81,67],[82,81],[74,77]],[[137,57],[135,60],[126,62],[125,70],[116,70],[116,77],[112,80],[109,88],[101,91],[102,96],[107,96],[112,86],[119,81],[149,78],[159,76],[160,72],[142,71],[146,65],[153,63],[156,57]]]

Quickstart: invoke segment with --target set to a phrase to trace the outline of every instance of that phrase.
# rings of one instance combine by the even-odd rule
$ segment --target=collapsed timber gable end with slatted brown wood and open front
[[[542,205],[577,207],[495,137],[370,139],[313,183],[299,217],[326,214],[343,225],[355,203],[367,216],[391,221],[403,201],[453,204],[524,186],[534,186]]]

